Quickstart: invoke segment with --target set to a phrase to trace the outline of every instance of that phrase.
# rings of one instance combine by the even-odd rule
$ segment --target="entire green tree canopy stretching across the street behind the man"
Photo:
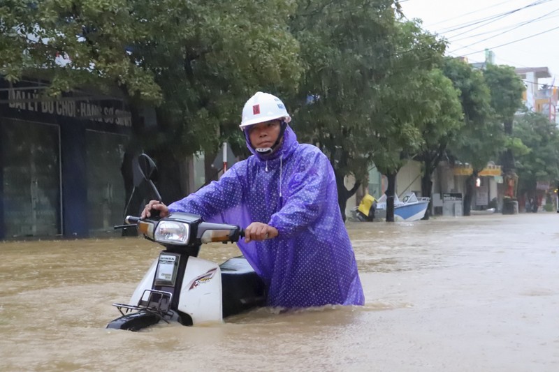
[[[444,40],[401,16],[393,0],[5,0],[0,74],[154,105],[143,148],[176,158],[244,147],[242,105],[261,90],[284,98],[340,177],[413,157],[431,172],[447,147],[477,169],[504,148],[527,163],[528,132],[502,127],[520,107],[514,70],[443,59]]]

